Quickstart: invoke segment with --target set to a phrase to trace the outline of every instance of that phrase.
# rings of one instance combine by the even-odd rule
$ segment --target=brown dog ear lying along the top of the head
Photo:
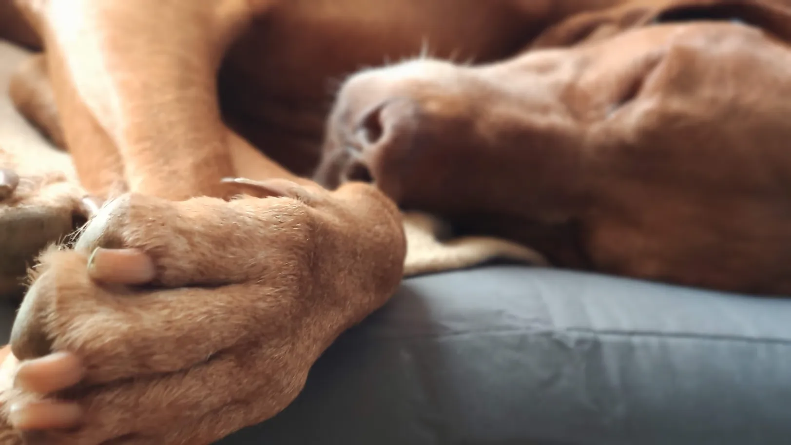
[[[574,15],[547,28],[529,49],[569,47],[615,36],[630,28],[682,21],[740,21],[791,41],[786,0],[668,0]]]

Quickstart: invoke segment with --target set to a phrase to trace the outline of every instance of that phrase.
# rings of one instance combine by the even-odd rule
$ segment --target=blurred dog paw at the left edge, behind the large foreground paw
[[[93,209],[95,201],[65,175],[0,168],[0,295],[19,291],[36,255],[74,232]]]

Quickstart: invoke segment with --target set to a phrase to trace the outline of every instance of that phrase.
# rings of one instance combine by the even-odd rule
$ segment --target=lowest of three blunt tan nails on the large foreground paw
[[[69,402],[14,403],[9,409],[9,422],[22,431],[73,428],[82,419],[80,405]]]

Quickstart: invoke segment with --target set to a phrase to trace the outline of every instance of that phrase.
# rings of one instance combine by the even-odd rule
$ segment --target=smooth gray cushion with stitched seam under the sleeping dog
[[[221,445],[787,444],[791,300],[490,266],[405,281]]]

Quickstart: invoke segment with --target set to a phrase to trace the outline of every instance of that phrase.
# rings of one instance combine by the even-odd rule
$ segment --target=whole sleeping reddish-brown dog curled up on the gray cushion
[[[76,250],[44,255],[14,326],[28,361],[2,394],[0,443],[31,430],[210,443],[271,417],[395,288],[403,235],[385,195],[566,266],[791,289],[779,6],[45,0],[26,13],[46,52],[15,96],[55,98],[25,112],[62,134],[89,193],[134,194]],[[366,71],[331,112],[320,182],[380,191],[298,178],[320,157],[328,82],[424,44],[483,65]],[[293,182],[221,181],[240,176]],[[280,198],[218,199],[240,187]]]

